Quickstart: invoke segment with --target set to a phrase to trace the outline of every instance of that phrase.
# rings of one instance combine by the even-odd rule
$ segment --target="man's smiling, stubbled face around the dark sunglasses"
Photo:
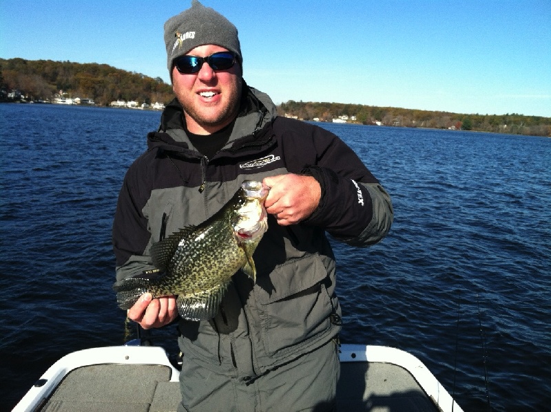
[[[187,54],[206,57],[227,51],[218,45],[200,45]],[[233,121],[239,111],[241,85],[238,62],[216,71],[205,62],[199,72],[191,74],[172,68],[172,89],[184,108],[187,130],[194,134],[211,134]]]

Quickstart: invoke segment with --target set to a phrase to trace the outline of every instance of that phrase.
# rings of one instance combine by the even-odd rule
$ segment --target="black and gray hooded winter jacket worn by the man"
[[[182,107],[167,106],[148,150],[129,167],[113,226],[118,280],[152,269],[160,238],[212,216],[242,181],[295,173],[315,177],[322,199],[312,216],[269,228],[253,260],[256,283],[233,276],[217,316],[180,321],[184,356],[244,380],[331,340],[340,330],[335,258],[326,232],[366,246],[391,227],[391,200],[354,152],[334,134],[277,116],[266,94],[245,87],[229,141],[207,159],[184,131]]]

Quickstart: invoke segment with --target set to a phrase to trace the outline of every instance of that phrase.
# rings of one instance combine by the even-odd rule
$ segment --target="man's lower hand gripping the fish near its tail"
[[[143,329],[168,325],[178,316],[176,296],[152,299],[151,293],[144,293],[134,306],[128,309],[127,316]]]

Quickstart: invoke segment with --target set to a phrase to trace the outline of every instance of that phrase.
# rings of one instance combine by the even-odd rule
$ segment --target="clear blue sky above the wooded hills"
[[[551,0],[202,0],[276,103],[551,117]],[[0,0],[0,58],[105,63],[169,83],[163,25],[191,0]]]

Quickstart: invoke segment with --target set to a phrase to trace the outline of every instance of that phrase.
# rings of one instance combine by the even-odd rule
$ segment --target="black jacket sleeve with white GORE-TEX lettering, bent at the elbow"
[[[302,125],[288,124],[286,128],[293,140],[293,152],[302,154],[304,163],[298,172],[313,176],[322,187],[320,205],[304,223],[323,227],[349,245],[368,246],[382,240],[393,221],[391,197],[386,190],[335,134],[298,123]]]

